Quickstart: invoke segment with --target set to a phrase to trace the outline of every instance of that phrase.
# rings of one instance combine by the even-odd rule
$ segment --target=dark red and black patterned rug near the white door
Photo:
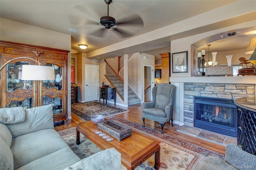
[[[72,104],[71,112],[84,121],[90,121],[93,115],[104,115],[105,117],[110,117],[128,111],[118,107],[105,105],[103,103],[99,103],[98,101],[92,101]]]

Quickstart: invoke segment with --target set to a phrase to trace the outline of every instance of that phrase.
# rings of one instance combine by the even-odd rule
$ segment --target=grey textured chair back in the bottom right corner
[[[236,144],[229,143],[226,146],[225,160],[232,167],[238,168],[239,170],[255,170],[256,168],[256,156],[245,152]]]

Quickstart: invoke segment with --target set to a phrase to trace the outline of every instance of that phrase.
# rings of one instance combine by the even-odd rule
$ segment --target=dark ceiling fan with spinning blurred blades
[[[133,28],[143,28],[144,22],[142,18],[138,14],[132,14],[126,16],[125,18],[116,22],[116,19],[109,16],[109,5],[111,4],[112,0],[104,0],[108,5],[108,15],[102,16],[100,18],[100,24],[104,26],[104,28],[100,28],[90,35],[96,37],[103,37],[104,34],[111,29],[113,33],[116,33],[120,38],[127,38],[130,36],[134,36],[136,32],[131,31],[134,30]]]

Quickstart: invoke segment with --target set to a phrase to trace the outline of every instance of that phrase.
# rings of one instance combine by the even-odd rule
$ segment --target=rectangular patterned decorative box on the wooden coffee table
[[[98,123],[98,129],[110,134],[119,142],[124,138],[132,135],[131,128],[109,120]]]

